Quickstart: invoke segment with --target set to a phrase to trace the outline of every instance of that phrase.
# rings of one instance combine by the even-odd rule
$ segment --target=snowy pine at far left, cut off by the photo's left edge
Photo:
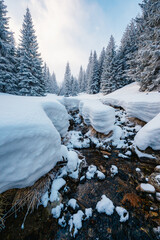
[[[0,0],[0,92],[17,93],[16,50],[4,0]]]

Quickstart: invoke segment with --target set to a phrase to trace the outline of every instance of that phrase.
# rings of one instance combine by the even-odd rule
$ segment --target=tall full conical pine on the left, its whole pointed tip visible
[[[38,53],[38,43],[29,9],[26,10],[21,30],[19,46],[19,88],[21,95],[43,96],[45,84],[42,74],[42,59]]]

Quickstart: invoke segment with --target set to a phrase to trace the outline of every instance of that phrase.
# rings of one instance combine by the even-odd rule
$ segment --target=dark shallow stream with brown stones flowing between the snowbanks
[[[73,117],[70,130],[82,131],[84,126],[82,121],[78,126]],[[124,123],[122,124],[124,125]],[[85,131],[84,131],[85,134]],[[132,140],[134,135],[130,135]],[[140,162],[137,155],[132,153],[128,158],[118,157],[119,153],[124,153],[122,149],[112,146],[110,150],[96,148],[91,144],[88,148],[78,149],[85,157],[87,165],[95,165],[102,173],[105,179],[100,180],[94,177],[91,180],[86,178],[81,181],[67,178],[68,191],[61,191],[63,203],[69,199],[77,200],[79,209],[93,209],[93,216],[83,221],[82,228],[73,238],[69,232],[69,226],[61,227],[58,220],[48,213],[47,208],[39,206],[37,210],[29,214],[25,221],[24,229],[21,225],[27,211],[26,208],[17,213],[17,217],[12,215],[5,223],[6,227],[0,232],[1,240],[147,240],[160,239],[155,235],[153,228],[160,226],[159,203],[153,199],[153,196],[136,190],[136,187],[144,182],[155,166],[154,162]],[[108,155],[108,158],[105,157]],[[118,168],[118,174],[114,177],[110,174],[111,165]],[[141,169],[141,173],[136,169]],[[87,167],[84,167],[81,176],[85,176]],[[101,196],[105,194],[112,200],[115,206],[123,206],[129,212],[129,219],[126,222],[120,222],[119,216],[114,212],[111,216],[104,213],[98,213],[95,209]],[[69,220],[70,215],[77,210],[67,209],[62,215]]]

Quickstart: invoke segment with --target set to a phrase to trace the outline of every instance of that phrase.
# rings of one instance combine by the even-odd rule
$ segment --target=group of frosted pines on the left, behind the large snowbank
[[[20,43],[16,48],[4,0],[0,0],[0,92],[24,96],[59,92],[55,74],[50,74],[38,51],[29,9],[26,10]]]

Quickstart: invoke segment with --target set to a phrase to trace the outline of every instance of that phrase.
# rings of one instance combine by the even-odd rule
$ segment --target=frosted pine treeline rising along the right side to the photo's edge
[[[140,83],[140,91],[160,91],[160,1],[143,0],[140,7],[142,15],[126,27],[118,49],[111,36],[99,57],[96,51],[90,53],[87,69],[80,67],[78,79],[65,74],[64,95],[108,94],[133,81]],[[77,92],[70,88],[73,79]]]

